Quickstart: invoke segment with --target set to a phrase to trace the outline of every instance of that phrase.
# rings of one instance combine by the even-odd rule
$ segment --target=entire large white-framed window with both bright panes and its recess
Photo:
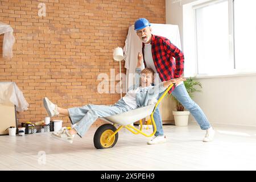
[[[188,76],[256,72],[255,8],[255,0],[183,5],[183,48],[189,69],[195,65]]]

